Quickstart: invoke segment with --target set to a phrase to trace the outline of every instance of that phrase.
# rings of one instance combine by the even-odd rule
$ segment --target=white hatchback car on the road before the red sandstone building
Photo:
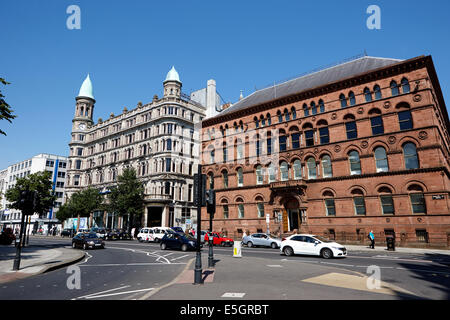
[[[311,234],[294,234],[281,242],[280,253],[316,255],[329,259],[347,256],[347,249],[334,241]]]

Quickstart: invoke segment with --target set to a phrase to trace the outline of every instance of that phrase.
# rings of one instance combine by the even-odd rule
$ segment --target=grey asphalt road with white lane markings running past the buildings
[[[33,244],[70,246],[70,239],[33,238]],[[108,241],[104,250],[89,250],[80,268],[80,289],[69,289],[68,268],[0,285],[0,299],[104,300],[139,299],[177,277],[195,252],[162,251],[156,243]],[[214,247],[217,260],[232,256],[232,248]],[[406,254],[398,252],[349,251],[344,259],[324,260],[312,256],[281,255],[278,249],[242,248],[245,257],[263,258],[267,265],[283,264],[327,266],[336,272],[356,271],[366,274],[377,266],[381,280],[399,286],[421,299],[450,299],[450,256]],[[203,268],[207,267],[208,248],[202,250]],[[220,261],[218,262],[220,263]],[[278,268],[277,272],[281,268]],[[37,294],[38,293],[38,294]]]

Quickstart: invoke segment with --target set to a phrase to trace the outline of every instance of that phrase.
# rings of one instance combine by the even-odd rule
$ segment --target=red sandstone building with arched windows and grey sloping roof
[[[430,56],[364,56],[256,91],[203,122],[214,229],[447,247],[449,142]]]

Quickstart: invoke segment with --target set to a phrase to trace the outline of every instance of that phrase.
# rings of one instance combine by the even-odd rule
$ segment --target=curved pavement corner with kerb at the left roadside
[[[73,250],[60,245],[22,247],[20,268],[13,270],[16,247],[14,245],[0,246],[0,283],[24,279],[41,274],[84,258],[84,251]]]

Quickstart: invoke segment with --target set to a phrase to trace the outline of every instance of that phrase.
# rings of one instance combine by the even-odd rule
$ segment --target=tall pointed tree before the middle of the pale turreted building
[[[123,174],[117,177],[118,184],[110,188],[108,194],[107,210],[123,217],[128,215],[130,223],[128,232],[135,226],[135,219],[143,212],[144,186],[136,177],[133,168],[126,168]]]

